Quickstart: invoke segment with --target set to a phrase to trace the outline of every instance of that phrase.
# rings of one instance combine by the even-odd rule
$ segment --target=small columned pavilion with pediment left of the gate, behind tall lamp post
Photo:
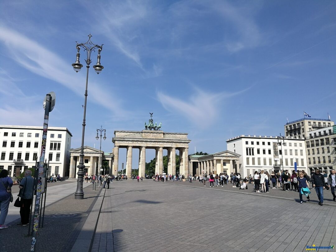
[[[76,148],[70,150],[70,174],[69,178],[77,178],[77,166],[79,165],[80,161],[80,155],[81,154],[81,148]],[[108,171],[101,171],[99,167],[99,158],[101,157],[101,160],[108,160],[109,161],[109,170]],[[84,172],[87,175],[92,174],[113,174],[112,173],[112,164],[113,164],[113,154],[112,153],[104,153],[103,151],[99,151],[95,148],[92,148],[90,146],[84,146]]]

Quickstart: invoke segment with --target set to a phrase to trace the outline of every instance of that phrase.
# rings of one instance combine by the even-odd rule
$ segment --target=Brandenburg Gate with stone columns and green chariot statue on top
[[[152,117],[151,113],[151,117]],[[119,162],[119,149],[127,149],[126,158],[126,175],[131,177],[132,172],[132,150],[139,149],[139,176],[145,177],[145,164],[146,164],[146,149],[155,150],[155,174],[163,173],[163,150],[168,151],[168,174],[175,174],[175,153],[179,151],[180,167],[179,174],[186,176],[190,173],[188,161],[188,148],[191,140],[188,139],[187,133],[171,133],[163,132],[161,123],[159,126],[153,124],[153,119],[149,120],[142,131],[114,131],[112,142],[114,143],[113,155],[113,173],[118,172]]]

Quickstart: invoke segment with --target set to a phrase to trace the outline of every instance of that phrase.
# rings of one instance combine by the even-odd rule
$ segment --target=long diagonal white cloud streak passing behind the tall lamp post
[[[64,85],[80,96],[83,95],[85,77],[72,73],[73,70],[69,67],[69,62],[62,60],[57,54],[14,30],[0,26],[0,34],[2,35],[0,42],[10,48],[8,52],[11,53],[11,57],[21,66],[32,73]],[[52,64],[50,64],[50,60],[52,60]],[[102,87],[98,83],[90,83],[90,93],[97,104],[115,114],[122,113],[123,109],[119,106],[120,99],[108,91],[100,92],[100,90]]]

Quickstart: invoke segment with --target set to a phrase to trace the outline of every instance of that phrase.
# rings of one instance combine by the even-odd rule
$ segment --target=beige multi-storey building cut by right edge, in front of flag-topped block
[[[331,169],[336,169],[335,138],[336,125],[307,133],[306,150],[310,171],[319,168],[329,174]]]

